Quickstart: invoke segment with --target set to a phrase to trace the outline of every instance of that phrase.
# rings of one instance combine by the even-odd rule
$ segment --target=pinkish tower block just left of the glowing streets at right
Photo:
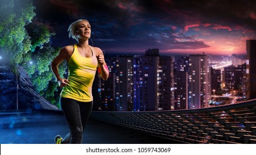
[[[211,96],[211,73],[208,55],[190,55],[188,108],[208,107]]]

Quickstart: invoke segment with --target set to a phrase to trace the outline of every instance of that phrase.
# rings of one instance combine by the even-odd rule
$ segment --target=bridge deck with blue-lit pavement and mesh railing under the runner
[[[54,143],[62,111],[0,112],[0,143]],[[176,111],[93,111],[83,143],[256,143],[256,99]]]

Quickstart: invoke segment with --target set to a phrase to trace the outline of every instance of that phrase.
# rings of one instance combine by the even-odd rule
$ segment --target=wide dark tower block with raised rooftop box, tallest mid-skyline
[[[158,49],[146,50],[140,59],[136,77],[140,94],[140,111],[171,110],[173,107],[173,60],[160,56]]]

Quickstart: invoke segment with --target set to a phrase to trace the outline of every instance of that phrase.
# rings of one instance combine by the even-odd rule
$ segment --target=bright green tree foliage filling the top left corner
[[[35,16],[30,0],[1,0],[0,48],[1,55],[16,68],[22,62],[22,54],[28,51],[28,33],[24,26]],[[24,40],[27,40],[24,42]],[[23,49],[25,44],[25,49]]]

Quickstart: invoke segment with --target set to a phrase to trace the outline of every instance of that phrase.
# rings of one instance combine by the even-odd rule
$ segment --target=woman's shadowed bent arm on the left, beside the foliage
[[[68,84],[68,80],[63,79],[59,75],[59,64],[62,63],[68,57],[68,50],[66,47],[60,49],[59,54],[53,59],[52,63],[50,64],[50,68],[53,71],[53,74],[57,78],[60,87],[65,87]]]

